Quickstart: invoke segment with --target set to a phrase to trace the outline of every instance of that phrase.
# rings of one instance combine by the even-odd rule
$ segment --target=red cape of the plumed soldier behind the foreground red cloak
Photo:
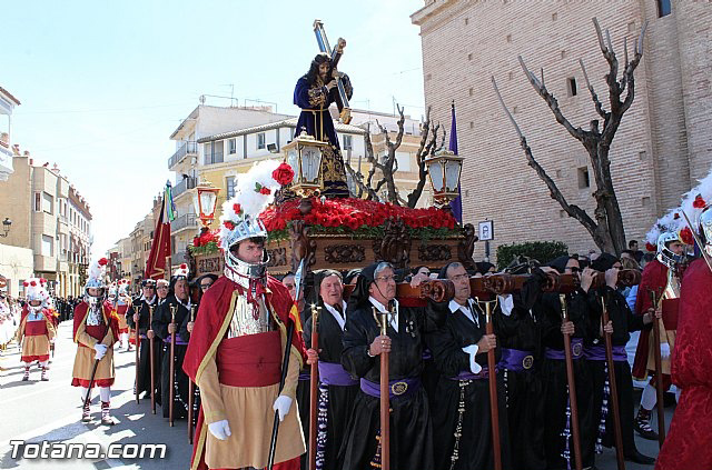
[[[641,283],[637,287],[637,298],[635,299],[635,314],[643,314],[653,307],[650,292],[662,293],[668,286],[668,267],[657,260],[653,260],[645,264]],[[633,360],[633,377],[643,379],[647,377],[647,354],[649,354],[649,334],[650,328],[644,328],[637,339],[637,348],[635,349],[635,359]]]

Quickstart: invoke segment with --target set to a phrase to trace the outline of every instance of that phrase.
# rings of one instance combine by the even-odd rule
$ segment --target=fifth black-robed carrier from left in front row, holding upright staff
[[[578,261],[568,256],[556,258],[545,267],[545,271],[577,276]],[[593,432],[593,397],[591,371],[583,358],[583,340],[589,331],[589,289],[595,271],[585,268],[581,272],[581,287],[566,296],[567,320],[562,320],[558,293],[542,293],[533,307],[535,318],[542,322],[542,346],[544,361],[544,451],[548,469],[573,468],[575,460],[571,426],[571,406],[564,357],[564,333],[571,336],[571,350],[576,384],[578,429],[581,432],[581,461],[583,467],[593,466],[595,434]]]

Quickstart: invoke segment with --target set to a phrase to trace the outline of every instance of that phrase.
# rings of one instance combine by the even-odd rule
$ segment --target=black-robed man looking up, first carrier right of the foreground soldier
[[[344,283],[338,271],[324,269],[314,272],[314,296],[307,300],[306,309],[310,310],[313,304],[319,309],[319,346],[317,350],[307,350],[307,362],[312,364],[318,360],[319,369],[316,464],[318,469],[334,469],[337,468],[338,451],[346,433],[345,424],[358,393],[358,381],[342,366],[346,302]],[[307,321],[304,327],[304,340],[308,347],[312,344],[312,321]],[[306,436],[308,432],[307,426]]]

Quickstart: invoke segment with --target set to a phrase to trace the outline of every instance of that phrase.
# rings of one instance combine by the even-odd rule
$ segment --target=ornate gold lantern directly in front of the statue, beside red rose
[[[284,147],[287,163],[295,176],[290,189],[301,197],[299,210],[307,213],[312,210],[308,198],[318,194],[322,188],[322,157],[327,142],[316,140],[305,131]]]

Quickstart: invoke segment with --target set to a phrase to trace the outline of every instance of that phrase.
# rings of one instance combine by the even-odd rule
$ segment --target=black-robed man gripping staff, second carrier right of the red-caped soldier
[[[414,277],[419,286],[426,277]],[[337,467],[366,470],[379,466],[379,380],[382,352],[389,352],[390,468],[433,470],[433,433],[426,393],[421,386],[424,334],[443,324],[447,302],[426,307],[402,307],[395,299],[396,282],[387,262],[365,268],[348,301],[342,366],[360,378]],[[380,316],[387,320],[387,336],[380,334]]]

